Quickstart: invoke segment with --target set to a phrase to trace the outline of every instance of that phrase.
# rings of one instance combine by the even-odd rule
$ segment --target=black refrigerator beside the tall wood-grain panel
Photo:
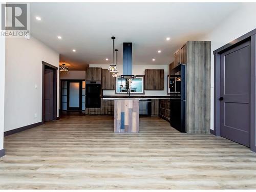
[[[169,76],[170,82],[170,125],[186,132],[186,65],[180,64]]]

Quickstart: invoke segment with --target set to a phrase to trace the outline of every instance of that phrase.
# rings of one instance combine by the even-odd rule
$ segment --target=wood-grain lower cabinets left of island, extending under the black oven
[[[114,115],[114,100],[101,99],[101,108],[86,108],[86,115]]]

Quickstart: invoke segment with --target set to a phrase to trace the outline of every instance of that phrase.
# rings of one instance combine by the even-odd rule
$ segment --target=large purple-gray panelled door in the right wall
[[[220,136],[250,146],[250,42],[221,54]]]

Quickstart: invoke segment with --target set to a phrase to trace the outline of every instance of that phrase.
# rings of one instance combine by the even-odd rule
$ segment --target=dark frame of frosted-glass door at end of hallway
[[[85,81],[84,79],[61,79],[60,80],[60,110],[62,111],[62,82],[63,81],[67,81],[68,83],[68,87],[67,87],[67,111],[82,111],[82,81]],[[79,109],[76,110],[76,109],[70,109],[69,108],[69,83],[70,82],[79,82],[80,83],[80,86],[79,86]]]

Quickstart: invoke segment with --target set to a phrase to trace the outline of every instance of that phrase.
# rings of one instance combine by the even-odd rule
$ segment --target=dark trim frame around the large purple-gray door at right
[[[256,152],[255,133],[256,133],[256,107],[255,107],[255,86],[256,86],[256,29],[246,33],[214,51],[214,131],[212,134],[220,136],[220,76],[221,76],[221,54],[229,49],[250,41],[251,65],[250,65],[250,150]]]

